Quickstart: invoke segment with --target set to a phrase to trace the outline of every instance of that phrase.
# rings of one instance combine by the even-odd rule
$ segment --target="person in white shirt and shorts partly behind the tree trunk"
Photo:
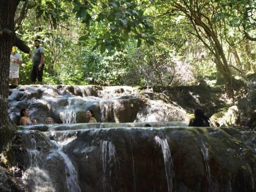
[[[18,85],[20,65],[23,63],[20,54],[16,53],[15,47],[12,48],[10,55],[10,73],[9,78],[13,79],[13,83]]]

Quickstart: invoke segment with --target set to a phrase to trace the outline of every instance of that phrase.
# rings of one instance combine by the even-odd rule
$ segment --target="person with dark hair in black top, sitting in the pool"
[[[196,108],[194,111],[195,118],[190,120],[190,127],[210,127],[210,119],[204,115],[204,112],[200,108]]]

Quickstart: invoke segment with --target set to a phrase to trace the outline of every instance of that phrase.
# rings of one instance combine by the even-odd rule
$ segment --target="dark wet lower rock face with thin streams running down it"
[[[18,165],[30,168],[28,175],[41,173],[37,179],[44,176],[39,186],[28,180],[30,189],[37,185],[41,191],[52,187],[52,191],[240,192],[256,187],[254,131],[130,127],[18,133],[14,143],[22,150],[16,156],[23,159]],[[26,163],[31,157],[34,164]]]

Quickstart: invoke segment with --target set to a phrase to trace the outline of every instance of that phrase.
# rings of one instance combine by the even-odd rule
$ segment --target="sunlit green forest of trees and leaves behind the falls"
[[[16,13],[17,36],[32,50],[36,38],[45,48],[44,84],[179,86],[204,79],[230,92],[235,79],[256,70],[255,1],[27,0]],[[31,54],[18,52],[20,84],[30,84]]]

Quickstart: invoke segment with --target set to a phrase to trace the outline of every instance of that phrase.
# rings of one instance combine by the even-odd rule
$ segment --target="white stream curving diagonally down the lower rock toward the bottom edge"
[[[80,186],[78,184],[77,171],[74,168],[74,165],[72,164],[70,158],[63,152],[63,145],[56,141],[51,142],[57,147],[54,152],[61,156],[65,163],[66,180],[69,192],[81,192]]]

